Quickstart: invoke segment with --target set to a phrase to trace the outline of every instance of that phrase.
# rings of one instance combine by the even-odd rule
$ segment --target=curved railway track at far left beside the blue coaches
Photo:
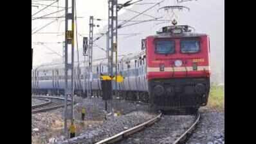
[[[37,104],[37,105],[33,105],[32,106],[32,114],[50,111],[52,109],[62,108],[65,106],[65,104],[64,104],[65,99],[62,97],[33,96],[32,99],[33,98],[46,100],[46,102],[43,102],[43,103]],[[70,101],[70,99],[68,99],[68,101]],[[68,103],[68,106],[70,104],[71,103]]]

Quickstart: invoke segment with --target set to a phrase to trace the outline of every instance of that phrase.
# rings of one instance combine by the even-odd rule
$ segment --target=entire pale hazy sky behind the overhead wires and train
[[[127,0],[118,0],[118,3],[124,3]],[[135,1],[135,0],[134,0]],[[144,0],[140,3],[151,3],[151,2],[159,2],[160,0]],[[161,6],[166,6],[170,4],[175,4],[174,0],[165,0],[164,3],[160,4],[149,12],[146,12],[150,15],[154,15],[156,17],[163,16],[160,13],[157,13],[156,10]],[[41,4],[50,4],[50,2],[44,1],[32,1],[33,3],[41,3]],[[197,32],[207,33],[210,35],[210,44],[211,44],[211,58],[214,61],[214,65],[218,65],[217,67],[224,67],[224,1],[223,0],[197,0],[197,1],[188,1],[185,3],[181,3],[182,5],[188,6],[190,8],[190,12],[177,12],[178,14],[178,22],[179,24],[188,24],[196,28]],[[57,6],[57,3],[54,4]],[[59,1],[59,6],[64,6],[64,0]],[[152,4],[147,5],[134,5],[128,8],[133,8],[133,10],[138,10],[142,12],[143,10],[149,8]],[[39,8],[32,7],[32,14],[41,10],[44,6],[39,6]],[[51,7],[46,10],[37,13],[33,17],[40,17],[41,15],[46,15],[51,12],[57,11],[57,8]],[[61,8],[59,8],[61,10]],[[58,14],[49,15],[49,17],[57,17],[64,15],[64,11],[59,12]],[[77,0],[77,16],[83,17],[78,18],[78,47],[82,47],[82,36],[87,36],[89,33],[89,16],[93,15],[95,18],[104,19],[100,22],[95,22],[100,25],[100,28],[95,28],[95,34],[97,32],[105,32],[104,26],[107,24],[107,0]],[[126,12],[125,10],[121,10],[119,12],[120,19],[125,17],[129,19],[136,15],[136,13]],[[168,18],[168,15],[164,15],[165,18]],[[136,20],[142,20],[149,17],[138,17]],[[152,19],[152,18],[151,18]],[[51,22],[53,19],[40,19],[40,20],[32,20],[32,30],[37,31],[37,29],[41,28],[45,24]],[[118,46],[120,48],[120,53],[127,52],[135,52],[140,51],[140,39],[147,35],[154,35],[155,32],[161,28],[161,26],[165,26],[166,24],[157,24],[157,22],[151,22],[149,24],[145,24],[143,26],[149,26],[148,31],[140,31],[142,25],[131,26],[129,28],[124,28],[120,30],[120,33],[127,33],[127,31],[131,31],[130,33],[143,33],[138,36],[132,36],[131,38],[118,38]],[[32,31],[32,32],[33,32]],[[42,29],[38,33],[32,35],[32,47],[34,48],[34,56],[33,56],[33,65],[41,65],[42,63],[50,63],[53,60],[57,60],[61,58],[62,55],[62,44],[57,44],[57,42],[62,42],[64,40],[64,35],[62,32],[64,31],[64,19],[56,20],[50,26]],[[50,34],[50,33],[51,34]],[[55,33],[58,32],[59,34]],[[118,31],[119,32],[119,31]],[[54,33],[54,34],[52,34]],[[97,35],[96,35],[97,36]],[[96,37],[95,36],[95,37]],[[38,45],[34,42],[45,42],[44,45]],[[128,43],[127,43],[128,42]],[[126,48],[129,42],[134,42],[133,49]],[[105,42],[96,43],[101,47],[105,48]],[[48,47],[48,48],[46,48]],[[118,47],[118,48],[119,48]],[[53,54],[50,49],[57,52],[58,54]],[[76,49],[75,49],[76,50]],[[80,51],[82,52],[82,51]],[[75,51],[75,54],[77,52]],[[102,58],[105,54],[103,51],[99,49],[95,49],[93,58]],[[83,60],[83,59],[82,59]],[[76,61],[76,60],[75,60]],[[217,63],[217,64],[216,64]]]

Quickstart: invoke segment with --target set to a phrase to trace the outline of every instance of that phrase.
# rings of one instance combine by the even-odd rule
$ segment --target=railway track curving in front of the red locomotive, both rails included
[[[151,120],[120,132],[96,144],[107,143],[185,143],[192,134],[200,115],[169,116],[161,113]],[[152,126],[151,126],[152,125]],[[150,127],[151,126],[151,127]]]

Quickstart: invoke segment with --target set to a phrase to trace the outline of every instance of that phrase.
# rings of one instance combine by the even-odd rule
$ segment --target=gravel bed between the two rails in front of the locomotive
[[[138,132],[118,144],[156,144],[172,143],[194,122],[192,115],[163,115],[161,120],[147,129]]]

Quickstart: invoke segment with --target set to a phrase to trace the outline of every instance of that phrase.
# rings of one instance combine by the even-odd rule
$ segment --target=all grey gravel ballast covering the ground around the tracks
[[[133,127],[152,117],[152,115],[142,112],[147,111],[146,105],[125,102],[124,100],[112,100],[112,102],[108,102],[109,110],[118,109],[122,114],[128,114],[118,117],[110,116],[107,120],[104,120],[105,102],[102,99],[81,99],[75,97],[75,101],[78,102],[75,104],[77,136],[79,141],[86,140],[84,143],[92,143],[113,136],[114,134],[123,131],[125,127]],[[32,104],[35,104],[33,99]],[[80,125],[80,113],[82,107],[86,108],[86,120],[84,125]],[[136,110],[141,111],[134,112]],[[187,141],[187,144],[224,143],[224,113],[212,111],[208,108],[201,108],[199,111],[201,112],[201,121],[197,125],[196,131]],[[63,108],[32,115],[32,143],[41,144],[49,143],[49,141],[63,141],[63,118]],[[163,127],[163,129],[153,132],[145,131],[144,133],[142,131],[140,134],[138,133],[140,138],[134,137],[130,140],[127,139],[126,141],[129,141],[129,143],[170,143],[170,141],[173,141],[173,137],[179,135],[180,127],[184,127],[184,129],[187,127],[186,122],[183,123],[183,126],[181,126],[181,124],[178,124],[179,126],[177,127],[168,126],[174,125],[177,120],[179,123],[179,119],[181,119],[179,116],[163,116],[157,124],[152,125],[152,127],[149,128],[152,129],[159,126]],[[194,120],[194,118],[190,119]],[[166,124],[161,123],[163,120],[165,120]],[[174,132],[176,130],[177,132]],[[136,134],[134,136],[136,136]],[[77,141],[77,138],[74,138],[73,141]]]

